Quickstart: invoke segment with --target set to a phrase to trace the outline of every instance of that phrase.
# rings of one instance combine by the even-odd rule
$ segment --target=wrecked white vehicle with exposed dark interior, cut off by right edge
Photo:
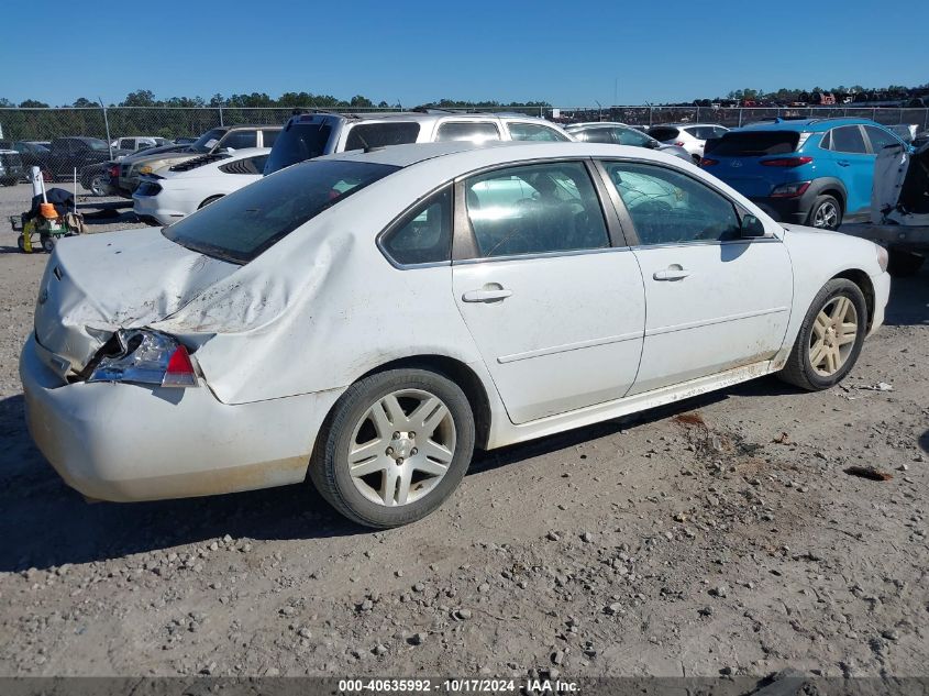
[[[892,275],[918,273],[929,254],[929,143],[915,153],[885,147],[874,164],[871,222],[839,231],[886,246]]]

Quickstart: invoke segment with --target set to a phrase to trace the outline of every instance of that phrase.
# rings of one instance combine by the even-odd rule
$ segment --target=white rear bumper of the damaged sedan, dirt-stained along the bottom
[[[155,500],[303,480],[338,393],[229,406],[209,388],[63,385],[30,338],[20,358],[26,423],[66,484],[89,498]]]

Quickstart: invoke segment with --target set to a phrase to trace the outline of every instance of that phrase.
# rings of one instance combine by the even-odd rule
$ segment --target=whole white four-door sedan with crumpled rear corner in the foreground
[[[60,242],[27,420],[89,498],[309,478],[357,522],[402,524],[475,446],[771,373],[834,385],[884,319],[886,263],[642,148],[343,153],[164,230]]]

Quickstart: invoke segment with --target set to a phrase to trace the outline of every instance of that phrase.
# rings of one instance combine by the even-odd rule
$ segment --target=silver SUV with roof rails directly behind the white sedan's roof
[[[498,140],[571,141],[561,126],[513,113],[425,112],[340,115],[303,113],[292,117],[277,137],[265,165],[265,176],[291,164],[349,150],[405,143]]]

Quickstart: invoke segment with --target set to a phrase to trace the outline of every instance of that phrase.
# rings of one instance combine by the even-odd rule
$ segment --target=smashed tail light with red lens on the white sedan
[[[197,373],[177,339],[143,329],[120,330],[87,382],[131,382],[159,387],[196,387]],[[110,344],[108,344],[109,346]],[[104,346],[104,351],[108,350]]]

